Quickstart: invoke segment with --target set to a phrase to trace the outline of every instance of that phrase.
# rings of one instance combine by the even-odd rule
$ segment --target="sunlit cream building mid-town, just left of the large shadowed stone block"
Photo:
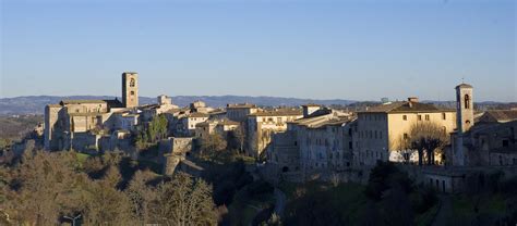
[[[287,130],[287,123],[303,117],[300,109],[276,109],[248,115],[247,154],[258,158],[267,149],[272,136]]]

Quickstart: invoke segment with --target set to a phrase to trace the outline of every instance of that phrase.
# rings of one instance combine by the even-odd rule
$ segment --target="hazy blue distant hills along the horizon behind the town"
[[[107,100],[115,99],[112,96],[28,96],[0,99],[0,115],[15,114],[44,114],[45,105],[59,103],[59,101],[69,100]],[[119,97],[120,99],[120,97]],[[209,106],[226,106],[227,103],[254,103],[261,106],[293,106],[305,103],[316,103],[323,105],[348,105],[356,101],[351,100],[311,100],[298,98],[278,98],[278,97],[247,97],[247,96],[177,96],[172,97],[172,102],[180,106],[202,100]],[[156,103],[156,98],[141,97],[140,104]]]

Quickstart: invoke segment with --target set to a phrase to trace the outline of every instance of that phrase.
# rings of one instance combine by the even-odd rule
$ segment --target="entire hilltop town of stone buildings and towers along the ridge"
[[[396,165],[414,184],[438,193],[467,192],[469,178],[480,173],[517,174],[517,110],[477,111],[469,84],[454,87],[455,109],[409,97],[352,111],[314,103],[212,108],[194,101],[179,106],[167,96],[142,105],[139,76],[122,74],[121,99],[45,106],[37,133],[4,150],[2,162],[36,147],[86,156],[117,153],[153,165],[163,176],[203,177],[211,174],[207,162],[226,154],[245,162],[253,180],[269,184],[280,197],[277,191],[286,184],[369,185],[383,164]]]

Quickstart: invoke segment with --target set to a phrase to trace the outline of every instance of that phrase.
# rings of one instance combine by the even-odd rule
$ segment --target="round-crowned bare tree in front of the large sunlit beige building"
[[[446,130],[434,123],[413,124],[409,133],[409,148],[417,150],[419,165],[423,164],[423,151],[428,155],[428,164],[434,164],[434,151],[448,142]]]

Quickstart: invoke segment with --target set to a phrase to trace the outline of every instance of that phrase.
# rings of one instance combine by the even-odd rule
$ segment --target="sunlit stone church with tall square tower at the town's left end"
[[[137,74],[123,73],[122,101],[62,100],[45,106],[45,149],[97,151],[100,138],[134,123],[134,117],[115,113],[134,110],[139,104],[137,91]]]

